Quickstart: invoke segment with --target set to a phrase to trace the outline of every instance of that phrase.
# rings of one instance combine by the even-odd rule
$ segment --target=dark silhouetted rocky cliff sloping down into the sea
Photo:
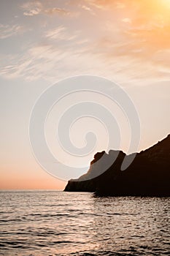
[[[90,178],[115,153],[117,151],[97,153],[90,163],[88,173],[77,180],[70,180],[64,190],[111,196],[170,196],[170,135],[155,146],[136,154],[134,162],[126,170],[120,170],[125,157],[120,151],[108,170],[96,178]],[[100,162],[100,166],[93,167],[97,162]]]

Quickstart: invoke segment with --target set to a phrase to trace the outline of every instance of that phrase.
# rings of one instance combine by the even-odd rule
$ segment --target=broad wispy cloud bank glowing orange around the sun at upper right
[[[45,27],[39,41],[22,56],[1,64],[1,74],[8,78],[53,80],[56,75],[90,73],[120,83],[137,81],[138,84],[146,80],[168,80],[170,18],[167,10],[170,9],[159,2],[158,6],[153,0],[74,1],[74,10],[82,13],[79,22],[72,25],[66,19],[64,26],[53,23]],[[39,1],[28,3],[23,7],[31,15],[35,12],[53,15],[65,10],[42,6]],[[91,11],[96,15],[89,15]],[[42,21],[48,19],[43,17]]]

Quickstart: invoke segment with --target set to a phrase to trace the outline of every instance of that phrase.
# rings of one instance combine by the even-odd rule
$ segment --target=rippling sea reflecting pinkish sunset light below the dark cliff
[[[0,192],[0,255],[170,255],[170,197]]]

